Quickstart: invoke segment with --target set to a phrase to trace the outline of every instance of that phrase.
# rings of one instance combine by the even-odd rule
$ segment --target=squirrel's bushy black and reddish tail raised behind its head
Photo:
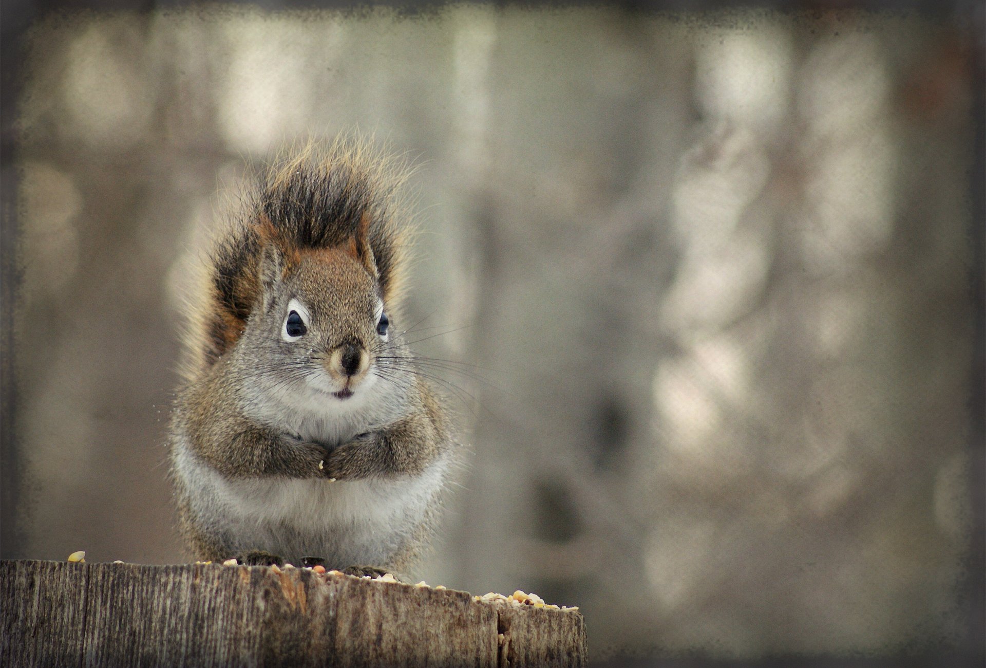
[[[365,143],[337,139],[284,155],[246,197],[240,222],[215,244],[206,299],[195,305],[185,343],[194,378],[240,339],[262,297],[263,259],[271,251],[288,271],[308,254],[358,260],[380,283],[388,312],[399,308],[408,234],[400,186],[406,170]]]

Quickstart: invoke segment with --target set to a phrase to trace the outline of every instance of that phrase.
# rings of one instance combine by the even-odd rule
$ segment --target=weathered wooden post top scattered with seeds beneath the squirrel
[[[574,611],[306,568],[0,561],[4,666],[583,666]]]

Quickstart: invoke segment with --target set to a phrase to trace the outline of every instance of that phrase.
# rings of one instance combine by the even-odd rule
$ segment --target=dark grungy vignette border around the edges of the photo
[[[17,407],[17,367],[14,359],[15,318],[22,270],[15,254],[17,247],[18,202],[17,172],[17,103],[25,73],[23,37],[39,20],[54,14],[76,11],[129,10],[151,12],[194,5],[185,0],[0,0],[0,557],[27,557],[20,549],[21,526],[15,508],[30,500],[21,476],[23,460],[15,442]],[[265,10],[350,9],[359,12],[373,6],[392,6],[408,16],[427,16],[444,4],[434,0],[383,0],[344,2],[341,0],[256,0],[242,3]],[[497,0],[497,6],[565,5],[594,6],[599,2],[568,0],[537,2]],[[967,37],[969,74],[973,94],[974,155],[968,175],[969,242],[972,263],[969,267],[970,290],[975,306],[975,348],[970,369],[972,394],[969,398],[969,461],[971,484],[971,541],[963,603],[969,611],[969,627],[964,641],[944,651],[935,647],[900,648],[896,657],[774,657],[756,662],[715,661],[691,658],[618,658],[599,666],[983,666],[986,665],[986,4],[979,0],[619,0],[612,3],[629,12],[686,12],[702,20],[708,10],[759,7],[781,11],[821,12],[827,10],[864,9],[869,11],[915,11],[955,26]],[[898,651],[900,651],[898,650]]]

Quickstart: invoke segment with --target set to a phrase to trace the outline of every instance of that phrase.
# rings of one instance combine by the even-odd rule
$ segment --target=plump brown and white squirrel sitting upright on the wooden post
[[[456,463],[399,322],[406,171],[366,142],[281,154],[186,309],[169,442],[193,557],[404,573]]]

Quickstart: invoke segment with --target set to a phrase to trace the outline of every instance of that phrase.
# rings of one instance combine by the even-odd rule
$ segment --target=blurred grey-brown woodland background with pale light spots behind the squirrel
[[[248,161],[359,128],[419,165],[404,325],[449,360],[469,449],[420,577],[578,605],[595,658],[960,644],[976,12],[35,22],[5,134],[2,556],[183,560],[188,261]]]

